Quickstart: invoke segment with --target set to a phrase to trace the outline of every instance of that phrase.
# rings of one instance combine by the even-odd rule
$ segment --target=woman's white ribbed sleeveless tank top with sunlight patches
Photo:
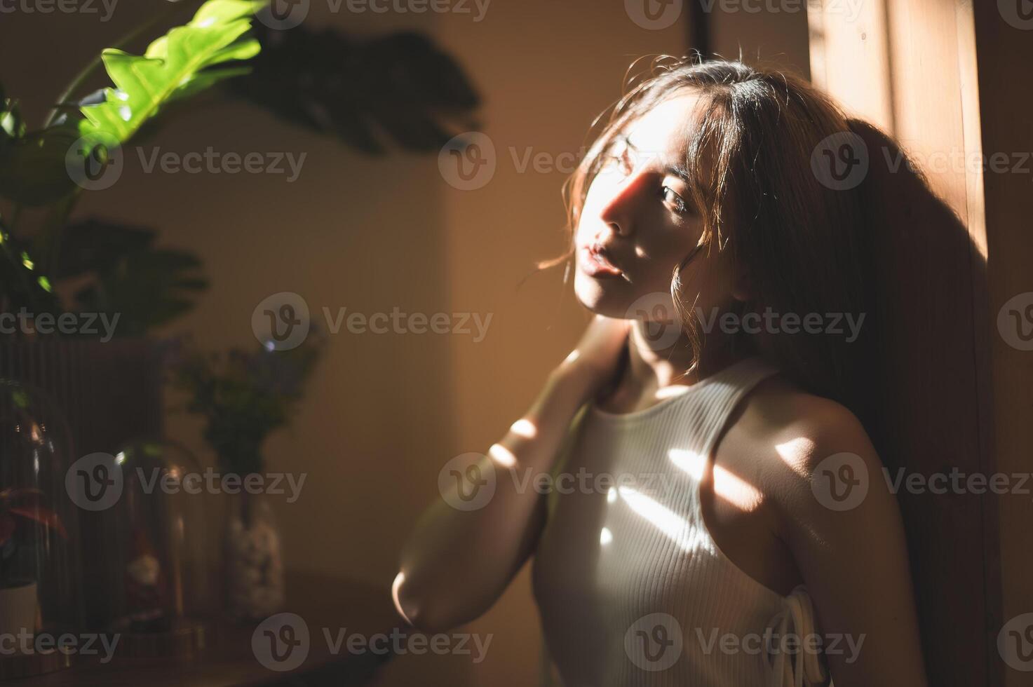
[[[645,410],[588,408],[532,570],[564,687],[824,684],[820,655],[778,650],[779,637],[816,632],[804,586],[783,596],[744,572],[699,505],[728,416],[776,372],[747,357]]]

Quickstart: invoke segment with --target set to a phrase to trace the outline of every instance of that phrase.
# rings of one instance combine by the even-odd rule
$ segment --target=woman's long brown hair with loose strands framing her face
[[[739,314],[771,309],[801,318],[808,313],[864,317],[852,341],[841,321],[839,335],[741,332],[735,345],[768,358],[804,389],[843,403],[865,421],[872,411],[865,375],[878,326],[871,312],[872,223],[878,213],[870,207],[880,202],[871,190],[878,165],[854,179],[827,177],[822,153],[853,156],[865,167],[866,143],[903,154],[884,134],[849,119],[797,76],[724,60],[653,60],[628,82],[608,117],[604,112],[597,118],[589,152],[564,184],[570,249],[538,267],[571,259],[588,189],[615,144],[631,122],[685,89],[698,97],[692,130],[686,131],[685,167],[702,218],[701,243],[707,250],[732,251],[748,275],[751,294]],[[904,166],[913,175],[913,167]],[[700,323],[686,313],[679,292],[683,267],[684,260],[672,274],[670,290],[698,362]]]

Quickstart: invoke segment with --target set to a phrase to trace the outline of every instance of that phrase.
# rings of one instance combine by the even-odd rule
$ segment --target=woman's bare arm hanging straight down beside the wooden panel
[[[857,418],[839,404],[816,401],[815,412],[795,428],[805,440],[792,444],[802,450],[781,456],[804,468],[794,495],[781,501],[785,537],[814,601],[822,646],[837,643],[826,651],[833,682],[925,687],[897,499]]]

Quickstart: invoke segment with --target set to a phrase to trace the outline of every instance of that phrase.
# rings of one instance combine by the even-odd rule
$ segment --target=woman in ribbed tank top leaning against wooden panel
[[[567,687],[926,684],[865,428],[862,136],[739,62],[660,63],[616,104],[569,181],[560,258],[596,317],[420,519],[394,585],[409,622],[479,616],[533,555]]]

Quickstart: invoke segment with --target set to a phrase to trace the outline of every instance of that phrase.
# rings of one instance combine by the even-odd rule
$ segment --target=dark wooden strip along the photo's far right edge
[[[988,323],[993,378],[994,456],[1003,473],[1029,473],[1033,446],[1033,351],[1016,341],[1015,322],[1008,311],[1013,298],[1033,300],[1033,18],[1025,0],[973,3],[979,84],[979,131],[988,156],[1005,156],[1005,169],[993,165],[983,175],[985,199]],[[991,157],[991,159],[993,159]],[[1026,294],[1023,296],[1022,294]],[[1004,315],[1007,326],[999,327]],[[1033,322],[1026,311],[1021,325],[1028,333]],[[1010,331],[1008,331],[1010,327]],[[988,567],[1001,577],[1000,615],[995,616],[991,638],[996,644],[1002,626],[1033,612],[1033,499],[1027,491],[1001,496],[1001,556]],[[1028,620],[1029,616],[1027,616]],[[1031,623],[1022,649],[1026,655]],[[1009,643],[1014,636],[1006,637]],[[1011,644],[1010,649],[1018,647]],[[1009,657],[1013,658],[1013,657]],[[1014,661],[1012,661],[1013,663]],[[1024,668],[1024,669],[1019,669]],[[1003,679],[993,683],[1015,687],[1033,684],[1033,661],[1003,665]]]

